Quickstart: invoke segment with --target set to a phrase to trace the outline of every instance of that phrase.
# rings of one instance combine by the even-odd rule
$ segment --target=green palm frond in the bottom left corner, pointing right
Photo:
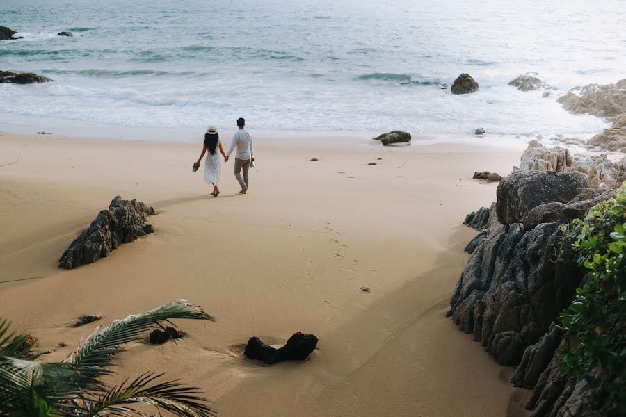
[[[9,414],[33,407],[36,398],[56,402],[76,396],[84,387],[98,386],[62,363],[0,357],[0,410]]]

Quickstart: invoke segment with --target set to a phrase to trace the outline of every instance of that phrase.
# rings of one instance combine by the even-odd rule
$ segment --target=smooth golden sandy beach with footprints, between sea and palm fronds
[[[495,199],[497,184],[472,174],[508,174],[524,144],[370,142],[259,134],[248,195],[231,161],[215,198],[191,172],[199,144],[1,135],[0,165],[19,162],[0,167],[0,316],[38,350],[67,343],[42,357],[52,361],[93,331],[73,328],[77,316],[106,325],[190,300],[217,321],[177,322],[177,343],[132,345],[118,377],[183,378],[220,416],[525,415],[511,369],[444,316],[475,234],[465,214]],[[156,233],[59,269],[115,195],[154,206]],[[319,337],[307,361],[243,357],[251,336],[281,345],[294,332]]]

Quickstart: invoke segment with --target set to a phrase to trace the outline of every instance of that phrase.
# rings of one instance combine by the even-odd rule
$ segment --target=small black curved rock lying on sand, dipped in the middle
[[[312,334],[294,333],[280,349],[268,346],[257,337],[252,337],[243,354],[249,359],[257,359],[268,365],[284,361],[303,361],[313,352],[317,338]]]

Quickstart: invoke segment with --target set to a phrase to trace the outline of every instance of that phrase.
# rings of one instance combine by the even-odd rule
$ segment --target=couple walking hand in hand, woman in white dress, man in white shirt
[[[230,154],[234,151],[234,148],[237,148],[234,169],[235,178],[239,181],[239,185],[241,186],[239,193],[246,194],[248,192],[248,170],[251,166],[255,166],[255,156],[254,152],[252,152],[252,136],[244,129],[246,120],[243,120],[243,117],[237,119],[237,126],[239,127],[239,131],[234,134],[227,154],[224,153],[217,129],[214,126],[209,126],[207,133],[204,134],[202,154],[200,154],[198,161],[193,164],[193,170],[198,170],[202,157],[204,154],[207,154],[207,158],[204,160],[204,181],[207,181],[207,183],[213,186],[213,193],[211,193],[211,195],[215,197],[220,194],[219,185],[220,174],[222,172],[222,161],[220,161],[217,149],[220,150],[220,153],[224,157],[224,162],[226,163],[228,162]],[[242,170],[243,176],[241,175]]]

